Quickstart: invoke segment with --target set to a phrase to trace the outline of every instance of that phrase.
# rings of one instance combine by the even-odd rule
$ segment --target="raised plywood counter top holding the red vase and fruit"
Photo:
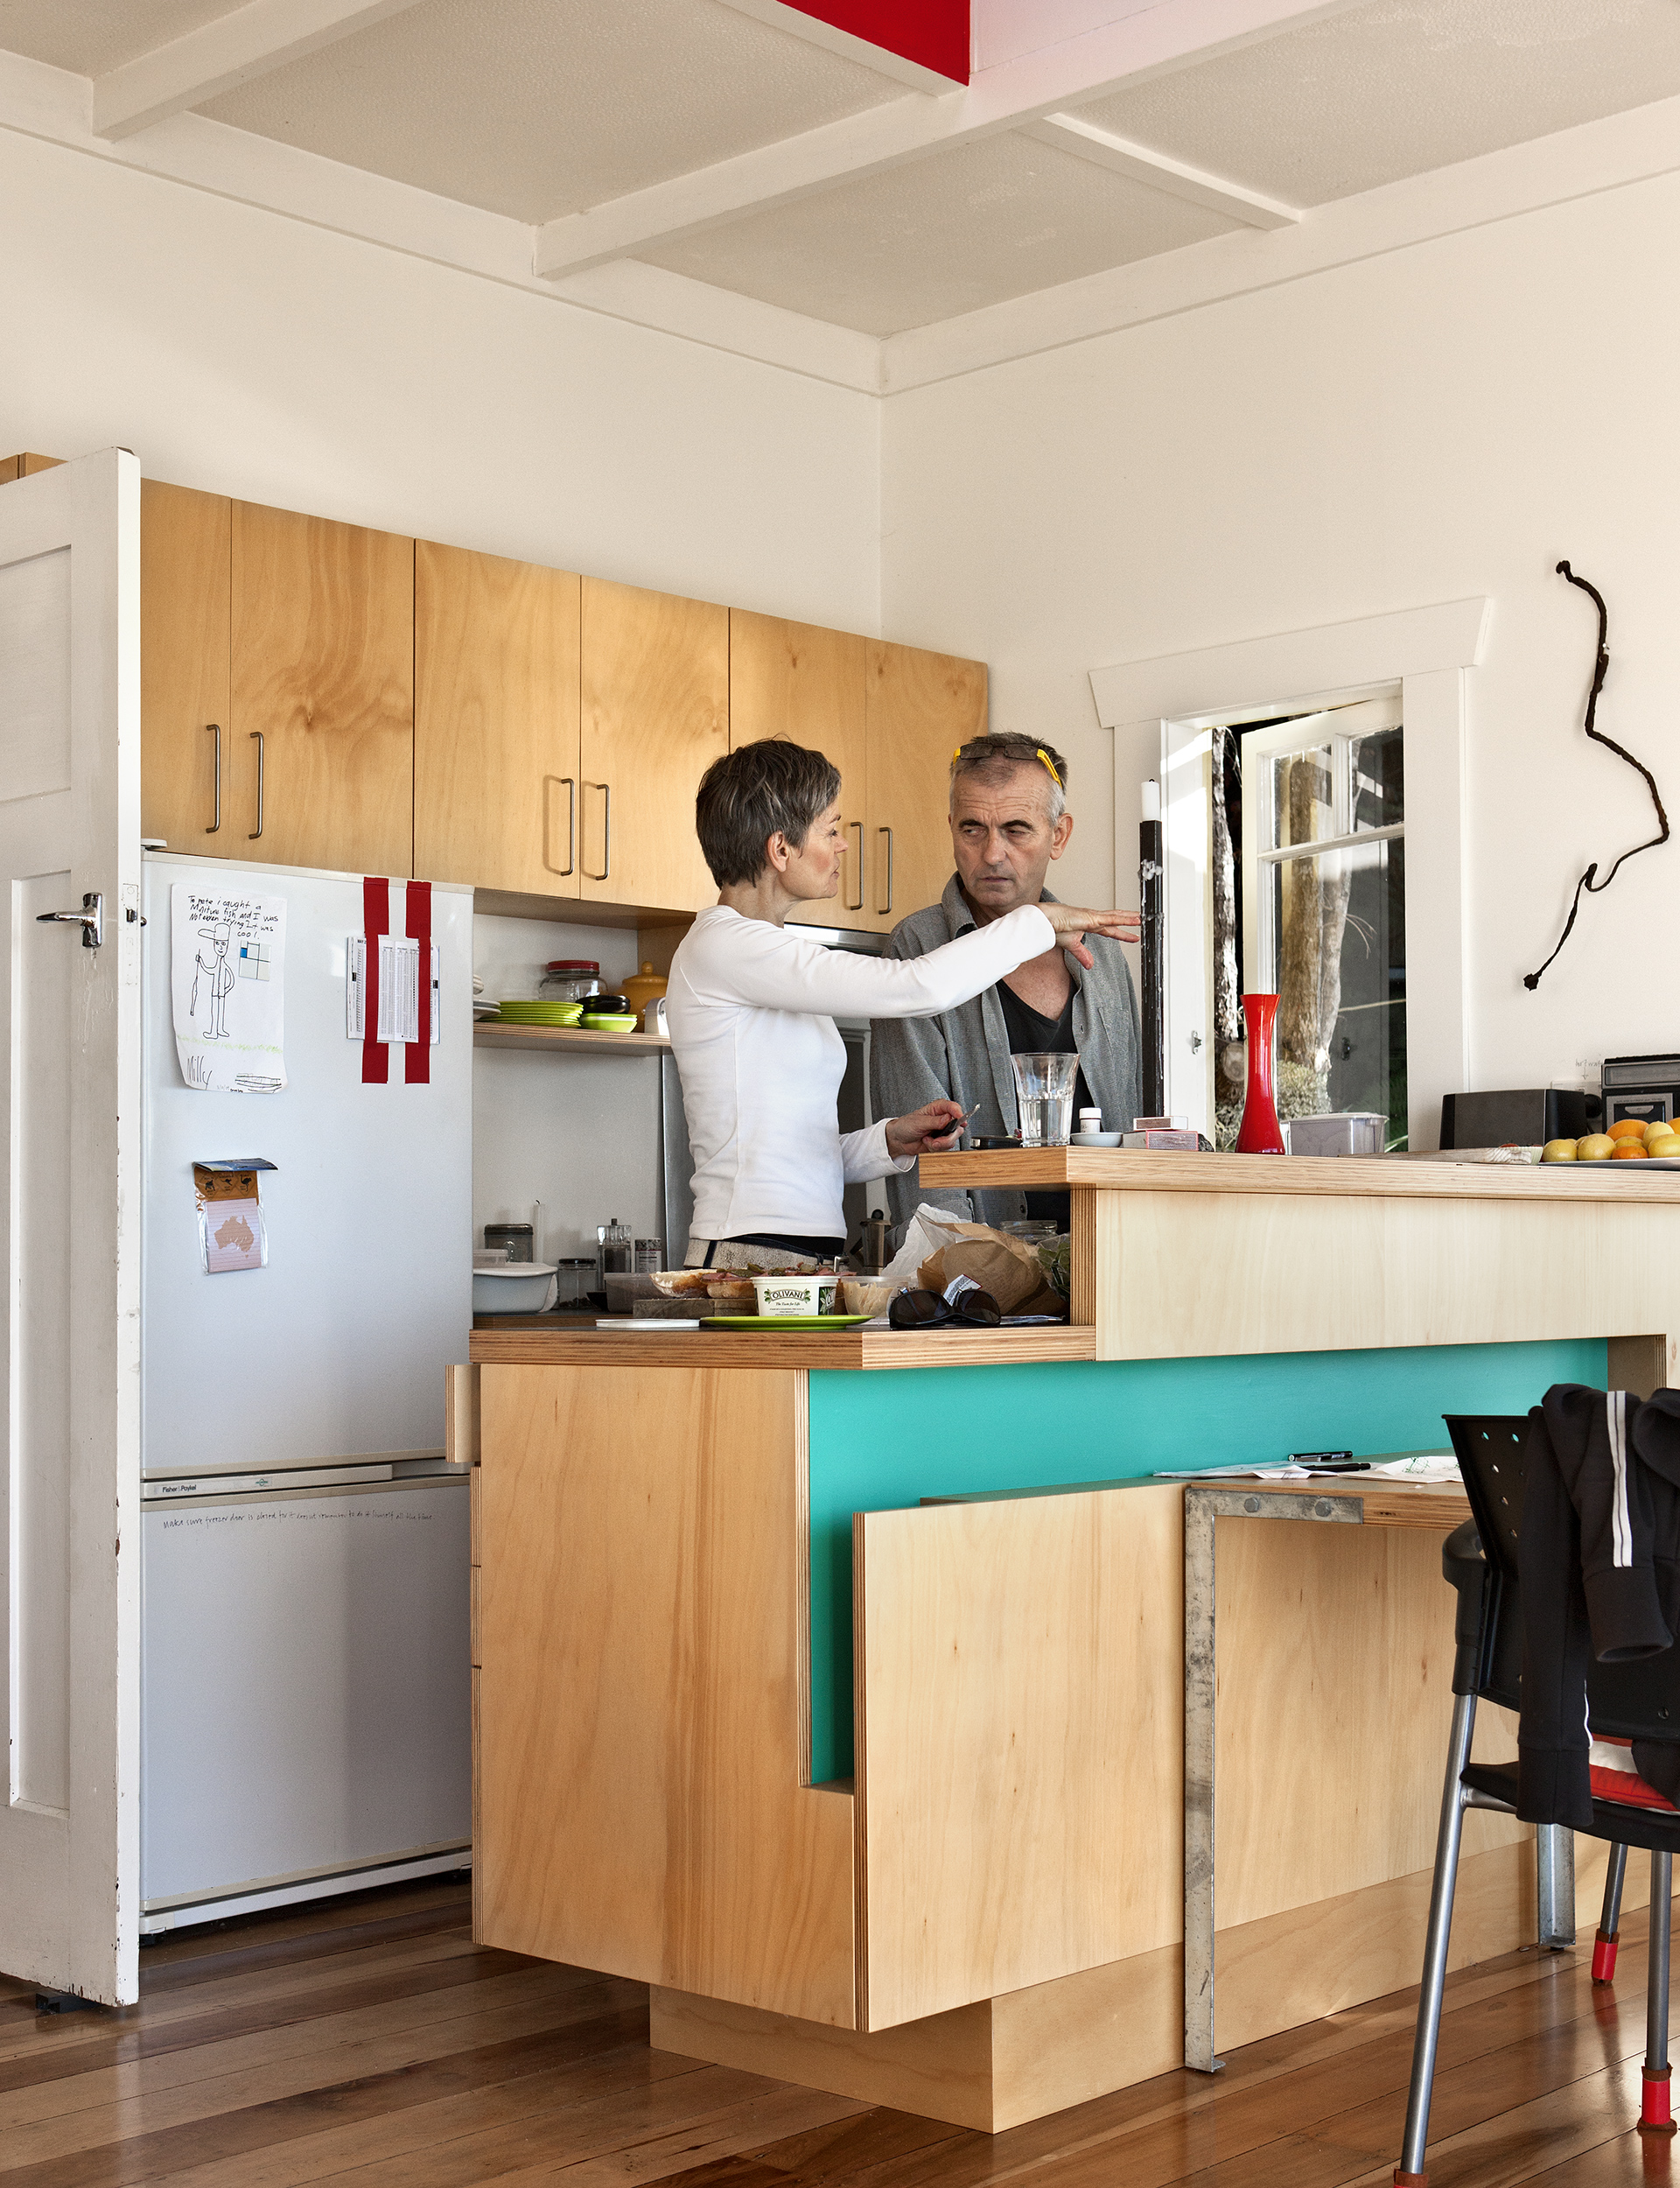
[[[1606,1201],[1680,1208],[1680,1171],[1652,1162],[1433,1162],[1407,1155],[1168,1155],[1124,1147],[1035,1147],[923,1155],[921,1184],[1094,1186],[1124,1192],[1267,1192],[1291,1199]]]

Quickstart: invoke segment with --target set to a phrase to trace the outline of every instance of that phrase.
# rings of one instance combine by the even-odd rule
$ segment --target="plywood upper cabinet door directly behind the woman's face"
[[[827,753],[840,768],[847,862],[840,895],[801,919],[868,928],[864,895],[864,652],[866,641],[816,624],[728,610],[728,748],[788,737]]]

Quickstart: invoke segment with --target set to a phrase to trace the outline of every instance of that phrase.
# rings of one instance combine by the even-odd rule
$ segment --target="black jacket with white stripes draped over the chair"
[[[1529,1413],[1525,1473],[1516,1814],[1586,1829],[1588,1654],[1636,1663],[1680,1632],[1680,1389],[1553,1383]],[[1636,1739],[1634,1768],[1680,1805],[1680,1746]]]

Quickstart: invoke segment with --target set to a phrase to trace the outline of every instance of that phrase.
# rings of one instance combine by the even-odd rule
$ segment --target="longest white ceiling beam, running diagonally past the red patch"
[[[1352,4],[1354,0],[1312,0],[1306,7],[1302,0],[1109,0],[1116,20],[984,68],[967,92],[952,92],[947,98],[892,98],[779,144],[547,221],[536,230],[534,267],[542,278],[560,280],[610,258],[634,258],[637,252],[722,228],[750,212],[770,212],[936,151],[1022,129],[1144,77],[1212,59],[1297,24],[1321,22]],[[1186,177],[1192,173],[1183,171]],[[1216,186],[1216,179],[1208,177],[1208,186]],[[1256,199],[1251,210],[1260,203]]]

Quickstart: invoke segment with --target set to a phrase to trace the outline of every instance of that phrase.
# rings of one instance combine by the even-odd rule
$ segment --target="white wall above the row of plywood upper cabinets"
[[[0,131],[0,455],[877,628],[877,405]]]

